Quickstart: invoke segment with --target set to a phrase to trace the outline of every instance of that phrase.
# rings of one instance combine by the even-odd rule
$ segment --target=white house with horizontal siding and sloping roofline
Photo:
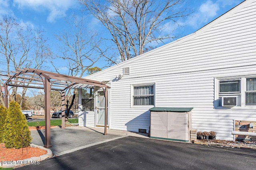
[[[111,87],[110,129],[148,132],[150,108],[193,107],[192,129],[233,140],[234,120],[256,121],[256,0],[242,2],[195,33],[85,78]],[[87,86],[80,89],[79,101],[79,125],[103,126],[104,92]]]

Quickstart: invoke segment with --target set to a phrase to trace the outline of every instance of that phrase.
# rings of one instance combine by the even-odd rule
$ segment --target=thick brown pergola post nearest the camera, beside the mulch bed
[[[50,80],[44,78],[44,120],[45,120],[45,140],[44,147],[50,148],[51,145],[51,122],[50,122]]]

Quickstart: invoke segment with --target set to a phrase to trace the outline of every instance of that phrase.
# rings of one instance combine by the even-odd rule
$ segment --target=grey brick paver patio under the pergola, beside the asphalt
[[[31,131],[32,143],[44,146],[44,130]],[[74,152],[100,143],[105,143],[125,136],[119,135],[103,135],[94,131],[85,131],[78,129],[51,129],[51,145],[49,148],[56,156]]]

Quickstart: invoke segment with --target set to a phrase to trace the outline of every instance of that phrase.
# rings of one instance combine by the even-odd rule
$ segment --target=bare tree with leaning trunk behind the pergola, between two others
[[[72,18],[68,18],[66,21],[69,25],[68,30],[61,35],[56,35],[56,38],[63,45],[60,48],[60,54],[62,55],[57,55],[56,57],[63,62],[67,62],[68,75],[82,77],[88,68],[92,67],[104,54],[103,52],[98,52],[101,39],[97,37],[95,31],[86,29],[86,18],[73,15]],[[59,73],[58,67],[53,62],[52,65]],[[72,96],[71,90],[66,95],[66,117],[74,104],[76,90],[73,91],[74,94],[70,106],[68,106],[68,101]]]

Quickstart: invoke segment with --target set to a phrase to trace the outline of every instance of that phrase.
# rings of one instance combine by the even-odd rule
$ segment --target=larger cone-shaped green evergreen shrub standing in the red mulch
[[[26,117],[17,102],[10,102],[4,123],[4,144],[6,148],[28,147],[32,141]]]

